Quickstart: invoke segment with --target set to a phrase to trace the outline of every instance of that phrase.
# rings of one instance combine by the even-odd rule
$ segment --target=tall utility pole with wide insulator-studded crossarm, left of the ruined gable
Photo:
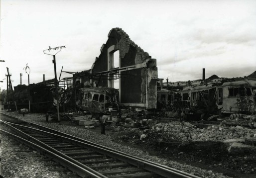
[[[53,60],[52,63],[54,64],[54,76],[55,76],[55,82],[54,82],[54,86],[55,86],[55,92],[56,92],[56,100],[57,100],[57,115],[58,115],[58,122],[60,121],[60,111],[59,111],[59,95],[58,95],[58,80],[57,80],[57,72],[56,72],[56,59],[55,59],[55,55],[58,54],[62,48],[66,48],[66,46],[59,46],[59,47],[55,47],[55,48],[51,48],[49,46],[49,49],[43,50],[44,54],[48,54],[53,56]],[[49,52],[51,50],[56,50],[55,53],[53,54],[49,54]],[[46,53],[48,51],[48,53]]]

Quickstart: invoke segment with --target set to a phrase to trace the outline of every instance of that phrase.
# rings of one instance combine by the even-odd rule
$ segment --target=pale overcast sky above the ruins
[[[170,82],[244,77],[256,71],[256,0],[0,0],[0,83],[12,86],[91,69],[112,28],[122,28],[157,60]],[[63,77],[71,77],[62,74]]]

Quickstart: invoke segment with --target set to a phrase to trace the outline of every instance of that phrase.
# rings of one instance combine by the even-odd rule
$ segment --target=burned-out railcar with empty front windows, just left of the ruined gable
[[[76,105],[81,110],[94,113],[104,113],[119,109],[119,92],[114,88],[80,88]]]

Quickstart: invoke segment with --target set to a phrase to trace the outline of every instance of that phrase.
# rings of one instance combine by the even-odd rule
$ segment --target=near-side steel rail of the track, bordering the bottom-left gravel
[[[69,169],[70,171],[77,173],[82,178],[85,178],[88,176],[91,178],[105,178],[105,177],[95,175],[94,173],[90,172],[89,170],[84,169],[84,168],[74,164],[73,162],[71,162],[71,161],[69,161],[69,160],[67,160],[67,159],[65,159],[65,158],[39,146],[39,145],[36,145],[35,143],[32,143],[24,138],[21,138],[17,135],[14,135],[14,134],[4,131],[2,129],[0,129],[0,132],[13,137],[15,140],[27,145],[30,148],[33,148],[34,150],[38,151],[39,153],[43,153],[44,155],[51,158],[52,160],[59,163],[60,165],[64,166],[65,168]]]

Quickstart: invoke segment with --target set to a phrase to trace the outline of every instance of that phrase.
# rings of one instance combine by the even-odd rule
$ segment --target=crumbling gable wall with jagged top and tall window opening
[[[120,102],[124,105],[156,108],[156,60],[151,59],[121,28],[113,28],[101,54],[92,66],[92,74],[108,72],[112,68],[111,54],[119,50]],[[99,86],[111,87],[111,80],[102,80]]]

